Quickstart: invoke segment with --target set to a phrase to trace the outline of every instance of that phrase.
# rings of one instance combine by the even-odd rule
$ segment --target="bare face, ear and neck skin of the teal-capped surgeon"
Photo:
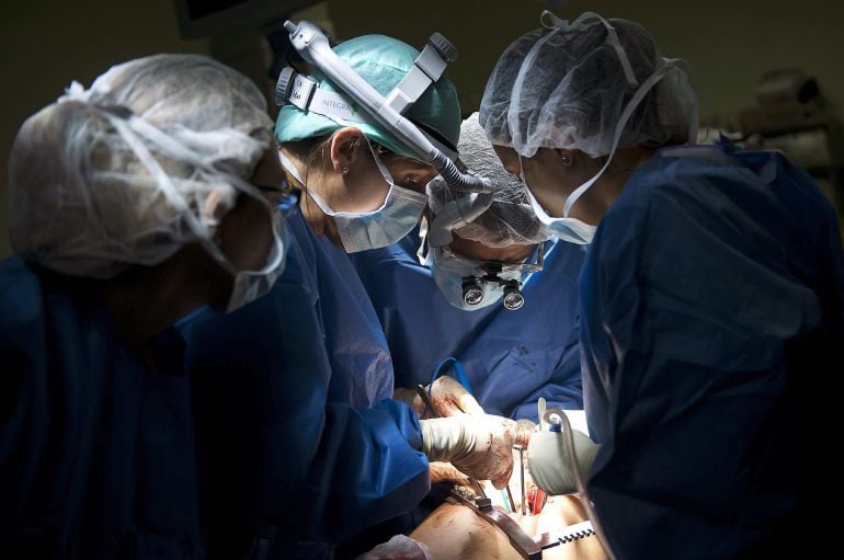
[[[335,130],[310,162],[284,146],[281,150],[293,161],[307,183],[306,187],[287,174],[290,185],[301,191],[313,191],[334,212],[373,212],[387,197],[389,185],[373,158],[364,134],[357,128]],[[390,155],[381,158],[381,161],[397,185],[418,193],[424,193],[425,185],[437,174],[432,165],[411,158]],[[347,171],[343,173],[343,169]],[[326,215],[309,196],[301,197],[300,208],[315,233],[327,236],[337,247],[343,247],[334,219]]]

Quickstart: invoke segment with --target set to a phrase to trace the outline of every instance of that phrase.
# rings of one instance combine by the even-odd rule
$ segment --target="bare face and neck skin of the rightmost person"
[[[516,176],[524,174],[533,195],[545,212],[556,218],[562,217],[566,198],[604,164],[603,159],[590,158],[580,150],[539,148],[533,157],[521,158],[513,148],[493,146],[493,149],[504,169]],[[596,226],[636,168],[653,152],[642,147],[618,149],[609,168],[578,198],[569,216]],[[570,165],[563,164],[563,157],[571,161]]]

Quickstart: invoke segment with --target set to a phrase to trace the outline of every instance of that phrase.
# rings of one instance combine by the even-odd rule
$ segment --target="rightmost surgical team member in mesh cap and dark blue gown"
[[[642,26],[548,15],[501,56],[480,108],[545,224],[591,243],[594,443],[575,434],[575,468],[563,436],[534,436],[534,479],[585,490],[617,558],[841,557],[831,205],[782,155],[686,145],[694,94]]]

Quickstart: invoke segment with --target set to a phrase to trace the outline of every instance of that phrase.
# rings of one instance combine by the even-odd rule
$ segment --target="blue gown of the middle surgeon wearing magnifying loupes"
[[[430,384],[440,362],[454,356],[490,414],[536,421],[539,397],[548,405],[583,408],[581,247],[548,243],[545,267],[528,279],[521,309],[497,302],[464,311],[445,299],[431,271],[419,263],[418,245],[413,231],[395,245],[352,255],[387,335],[397,387]]]

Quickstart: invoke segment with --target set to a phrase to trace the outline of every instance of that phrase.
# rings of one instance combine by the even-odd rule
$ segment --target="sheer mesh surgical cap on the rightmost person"
[[[591,12],[572,23],[550,12],[543,20],[546,27],[513,42],[487,81],[480,123],[490,141],[528,158],[539,148],[606,156],[628,102],[659,70],[664,76],[636,105],[618,147],[692,137],[697,104],[686,75],[641,25]]]

